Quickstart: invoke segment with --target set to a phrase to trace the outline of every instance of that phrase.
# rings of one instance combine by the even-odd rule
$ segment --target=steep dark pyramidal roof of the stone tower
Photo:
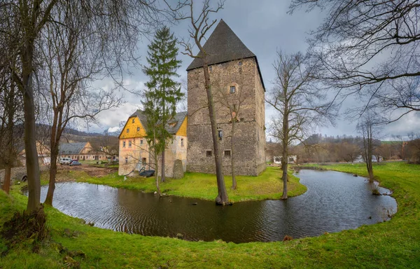
[[[264,81],[262,81],[260,65],[258,64],[257,56],[251,50],[246,48],[245,44],[239,39],[235,32],[230,29],[224,20],[221,20],[209,39],[203,46],[208,54],[208,64],[220,64],[222,62],[230,62],[233,60],[240,60],[245,58],[255,58],[257,62],[258,74],[261,78],[262,88],[265,90]],[[200,52],[198,56],[202,55]],[[202,67],[202,58],[195,58],[188,66],[187,71]]]

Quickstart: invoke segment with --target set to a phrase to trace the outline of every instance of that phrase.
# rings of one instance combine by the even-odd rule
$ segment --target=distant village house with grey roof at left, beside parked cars
[[[107,160],[109,156],[92,148],[90,142],[66,143],[59,145],[59,158],[73,160]]]

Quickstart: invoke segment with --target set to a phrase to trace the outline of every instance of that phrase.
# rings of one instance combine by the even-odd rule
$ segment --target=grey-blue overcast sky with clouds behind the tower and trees
[[[214,14],[212,18],[220,20],[223,18],[230,28],[239,36],[239,39],[258,57],[262,78],[266,88],[272,87],[271,81],[274,78],[272,63],[276,57],[276,50],[285,53],[304,52],[307,49],[306,39],[308,32],[322,22],[323,15],[320,11],[305,13],[298,11],[293,15],[288,15],[288,0],[227,0],[223,10]],[[188,36],[187,22],[179,25],[172,25],[171,29],[175,36],[181,39]],[[209,33],[211,34],[211,33]],[[147,45],[150,41],[147,38],[139,43],[138,55],[141,57],[141,64],[146,64]],[[181,48],[180,48],[181,50]],[[186,81],[186,68],[192,61],[186,55],[179,55],[182,66],[179,69],[180,81]],[[143,90],[146,76],[141,68],[130,69],[132,76],[125,78],[125,85],[131,90]],[[104,79],[95,83],[102,88],[111,88],[111,79]],[[125,104],[112,111],[104,111],[98,117],[98,125],[90,125],[90,132],[102,132],[109,128],[110,131],[116,130],[120,121],[127,120],[136,109],[141,107],[139,96],[121,90],[125,96]],[[354,99],[349,99],[344,103],[344,108],[356,104]],[[342,109],[344,112],[344,109]],[[274,111],[266,105],[266,122],[274,115]],[[83,128],[81,129],[83,130]],[[83,130],[85,131],[85,130]],[[323,135],[357,135],[356,123],[348,122],[343,119],[337,120],[337,125],[321,127],[316,132]],[[391,135],[407,135],[407,132],[420,132],[420,113],[410,113],[397,123],[384,127],[384,137]]]

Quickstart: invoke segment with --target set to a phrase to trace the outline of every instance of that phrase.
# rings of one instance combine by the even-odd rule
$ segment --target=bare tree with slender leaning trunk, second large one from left
[[[64,14],[71,14],[75,6],[67,8]],[[51,125],[50,130],[50,181],[45,198],[46,205],[52,205],[57,175],[59,142],[65,128],[75,119],[94,120],[100,112],[119,106],[121,99],[112,92],[96,90],[90,85],[104,66],[96,53],[100,43],[85,36],[88,21],[71,15],[63,15],[63,10],[52,12],[51,17],[66,25],[46,25],[41,32],[45,62],[45,98],[43,115]],[[64,18],[62,18],[64,17]],[[41,75],[38,75],[38,77]],[[50,113],[51,112],[51,113]]]

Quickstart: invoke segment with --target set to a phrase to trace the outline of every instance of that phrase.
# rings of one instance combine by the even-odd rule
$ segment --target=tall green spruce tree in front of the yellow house
[[[144,74],[149,77],[146,83],[148,90],[146,91],[146,99],[149,104],[145,109],[146,113],[156,115],[158,113],[160,122],[155,132],[155,139],[160,143],[162,148],[162,182],[165,181],[165,147],[166,142],[172,139],[172,135],[167,132],[165,126],[169,123],[176,113],[176,104],[181,101],[183,93],[180,84],[174,81],[176,69],[181,66],[181,61],[176,60],[178,48],[176,47],[176,38],[168,27],[162,27],[156,34],[153,42],[148,46],[148,67],[144,68]],[[147,112],[148,111],[148,112]],[[153,135],[151,132],[147,135]],[[157,165],[157,163],[156,163]],[[158,170],[156,170],[158,173]]]

